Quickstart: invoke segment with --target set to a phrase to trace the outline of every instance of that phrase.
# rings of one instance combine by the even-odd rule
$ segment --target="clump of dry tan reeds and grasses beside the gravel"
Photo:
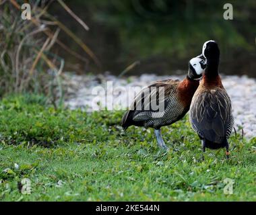
[[[22,19],[22,12],[28,9],[27,6],[22,9],[23,3],[30,3],[31,18]],[[58,53],[58,48],[81,62],[88,60],[59,40],[59,34],[78,44],[99,67],[100,62],[92,50],[49,13],[51,3],[58,3],[66,15],[88,30],[62,0],[0,0],[0,97],[29,92],[46,95],[55,107],[62,106],[65,58]]]

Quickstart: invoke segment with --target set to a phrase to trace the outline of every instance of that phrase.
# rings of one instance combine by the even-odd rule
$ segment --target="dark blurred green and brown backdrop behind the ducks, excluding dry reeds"
[[[227,1],[193,0],[94,0],[65,1],[90,27],[82,31],[58,4],[51,13],[79,35],[98,56],[84,64],[69,56],[67,69],[80,73],[110,71],[119,74],[129,64],[140,64],[128,74],[173,74],[187,70],[188,60],[201,52],[206,40],[216,40],[221,48],[221,72],[256,77],[256,1],[232,3],[234,19],[223,18]],[[60,35],[80,54],[75,42]],[[179,72],[179,71],[178,71]]]

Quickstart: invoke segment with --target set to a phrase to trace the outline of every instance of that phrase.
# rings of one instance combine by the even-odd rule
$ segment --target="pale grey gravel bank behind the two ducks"
[[[82,108],[86,111],[99,110],[98,99],[105,99],[106,107],[123,108],[131,104],[133,93],[127,92],[127,87],[145,87],[150,83],[161,79],[183,79],[184,76],[156,76],[141,75],[139,77],[129,77],[128,79],[118,79],[112,75],[81,76],[65,74],[64,84],[67,87],[67,97],[65,105],[71,109]],[[112,81],[112,82],[108,82]],[[232,101],[232,111],[234,114],[235,128],[243,128],[247,138],[256,136],[256,80],[247,76],[224,76],[222,83]],[[107,89],[113,85],[113,91],[103,92],[101,95],[92,95],[92,91]],[[97,87],[97,88],[95,88]],[[117,94],[113,98],[106,97]],[[94,93],[95,94],[95,93]],[[129,97],[129,101],[127,99]],[[102,100],[103,101],[103,100]]]

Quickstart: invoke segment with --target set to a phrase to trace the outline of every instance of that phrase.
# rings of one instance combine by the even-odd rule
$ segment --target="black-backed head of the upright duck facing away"
[[[220,49],[218,44],[214,40],[208,40],[203,44],[202,54],[208,59],[218,59],[220,58]]]

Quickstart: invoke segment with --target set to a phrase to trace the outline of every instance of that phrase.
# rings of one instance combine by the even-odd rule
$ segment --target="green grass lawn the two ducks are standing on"
[[[0,201],[256,200],[256,138],[233,135],[229,160],[224,149],[207,149],[202,161],[187,118],[162,129],[164,153],[153,130],[123,132],[122,114],[55,110],[35,95],[2,99]],[[20,191],[24,178],[31,194]],[[234,180],[232,195],[225,178]]]

